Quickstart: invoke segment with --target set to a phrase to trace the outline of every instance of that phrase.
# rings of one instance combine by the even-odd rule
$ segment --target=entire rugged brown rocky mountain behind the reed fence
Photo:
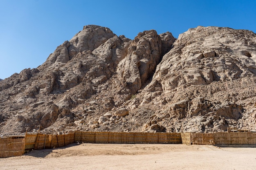
[[[0,82],[0,133],[256,130],[256,34],[88,25],[38,68]]]

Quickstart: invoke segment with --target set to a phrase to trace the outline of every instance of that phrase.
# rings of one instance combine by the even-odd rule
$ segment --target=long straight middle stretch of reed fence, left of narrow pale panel
[[[80,132],[75,141],[95,144],[181,144],[180,133]]]

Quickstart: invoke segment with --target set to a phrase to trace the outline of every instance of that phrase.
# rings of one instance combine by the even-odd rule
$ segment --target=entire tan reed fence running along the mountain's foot
[[[57,148],[75,142],[95,144],[196,144],[256,145],[253,132],[143,133],[81,132],[64,135],[26,134],[25,137],[0,138],[0,158],[20,156],[25,150]]]

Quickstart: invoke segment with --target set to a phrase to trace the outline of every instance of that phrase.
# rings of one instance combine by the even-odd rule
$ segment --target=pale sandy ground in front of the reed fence
[[[1,170],[256,170],[256,148],[71,144],[0,159]]]

